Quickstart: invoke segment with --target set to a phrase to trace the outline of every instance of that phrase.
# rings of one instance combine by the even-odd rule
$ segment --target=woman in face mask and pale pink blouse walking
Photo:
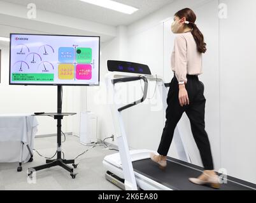
[[[177,34],[171,55],[174,77],[167,96],[166,124],[157,150],[159,155],[150,156],[160,167],[166,167],[166,156],[173,140],[174,129],[183,112],[186,112],[204,165],[203,174],[189,180],[198,185],[219,188],[218,176],[213,171],[210,142],[205,131],[204,84],[198,78],[198,75],[203,73],[202,53],[206,52],[206,43],[195,22],[196,14],[189,8],[180,10],[174,15],[171,26],[172,32]]]

